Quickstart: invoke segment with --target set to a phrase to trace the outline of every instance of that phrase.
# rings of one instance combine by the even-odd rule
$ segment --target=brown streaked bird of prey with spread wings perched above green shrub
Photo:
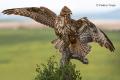
[[[91,51],[90,42],[97,42],[111,52],[115,50],[107,35],[86,17],[72,19],[72,11],[64,6],[59,15],[46,7],[26,7],[4,10],[2,13],[30,17],[54,29],[57,39],[52,43],[62,53],[63,64],[67,59],[78,59],[88,64],[86,55]]]

